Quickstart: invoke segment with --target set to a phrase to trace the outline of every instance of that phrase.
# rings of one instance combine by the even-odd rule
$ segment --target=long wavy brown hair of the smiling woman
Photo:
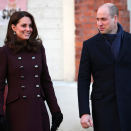
[[[14,31],[12,30],[12,27],[11,27],[12,24],[16,26],[17,23],[19,23],[19,20],[23,17],[29,17],[31,19],[32,29],[33,29],[33,32],[30,38],[26,41],[20,40],[16,34],[14,35]],[[20,50],[24,48],[24,42],[26,42],[26,48],[30,52],[32,51],[37,52],[37,50],[42,45],[42,40],[38,36],[38,31],[37,31],[37,27],[34,21],[34,17],[26,11],[18,11],[18,12],[13,13],[9,20],[7,34],[6,34],[4,43],[8,44],[9,47],[15,52],[19,52]]]

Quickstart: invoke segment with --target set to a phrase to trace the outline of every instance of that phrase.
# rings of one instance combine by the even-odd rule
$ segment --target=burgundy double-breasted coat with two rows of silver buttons
[[[60,111],[42,46],[37,53],[15,53],[0,47],[0,115],[4,115],[5,78],[8,82],[6,118],[9,131],[50,131],[44,100],[51,113]]]

